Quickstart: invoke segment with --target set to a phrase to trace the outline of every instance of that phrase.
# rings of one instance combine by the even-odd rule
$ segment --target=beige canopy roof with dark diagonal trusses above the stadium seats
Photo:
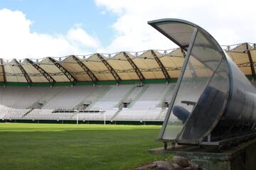
[[[183,30],[191,35],[190,30]],[[179,42],[186,42],[186,36]],[[183,44],[183,47],[187,47]],[[223,46],[245,75],[255,77],[256,44],[242,43]],[[186,52],[172,50],[146,50],[114,54],[70,55],[46,57],[41,60],[0,59],[0,82],[55,83],[76,81],[122,81],[178,78]],[[197,72],[203,74],[202,72]],[[50,78],[53,81],[50,81]]]

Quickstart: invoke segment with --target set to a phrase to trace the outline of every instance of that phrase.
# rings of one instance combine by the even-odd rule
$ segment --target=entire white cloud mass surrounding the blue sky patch
[[[49,35],[31,31],[33,21],[21,11],[0,10],[0,58],[22,59],[65,56],[98,52],[169,49],[174,43],[151,28],[147,21],[159,18],[181,18],[208,30],[221,45],[255,42],[256,2],[199,0],[95,0],[102,15],[117,16],[112,24],[115,35],[109,45],[102,47],[95,35],[89,35],[80,24],[66,34]]]

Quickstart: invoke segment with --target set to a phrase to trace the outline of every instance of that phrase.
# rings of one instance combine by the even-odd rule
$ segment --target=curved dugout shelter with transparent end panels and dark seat
[[[187,51],[159,140],[221,145],[223,140],[255,133],[255,86],[235,65],[255,74],[250,45],[225,52],[206,30],[180,19],[149,21],[149,25]]]

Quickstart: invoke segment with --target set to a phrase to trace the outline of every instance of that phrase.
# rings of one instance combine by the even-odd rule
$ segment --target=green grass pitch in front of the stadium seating
[[[0,169],[131,169],[171,155],[154,125],[60,125],[0,123]]]

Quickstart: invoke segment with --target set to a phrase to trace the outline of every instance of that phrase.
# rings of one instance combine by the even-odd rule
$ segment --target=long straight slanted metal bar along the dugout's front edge
[[[189,57],[191,55],[191,50],[192,50],[192,47],[193,47],[193,43],[196,40],[197,33],[198,33],[198,28],[195,27],[194,30],[193,30],[193,35],[192,35],[192,38],[191,38],[191,42],[189,43],[189,46],[188,46],[188,52],[186,54],[185,60],[183,61],[183,66],[182,66],[182,69],[181,69],[180,76],[178,77],[178,80],[177,80],[177,83],[176,83],[176,86],[175,86],[175,89],[174,89],[173,97],[171,98],[171,102],[170,102],[168,111],[166,113],[166,118],[164,119],[164,123],[163,123],[161,131],[159,133],[159,140],[162,140],[162,138],[164,136],[164,131],[166,130],[166,125],[167,125],[169,117],[171,115],[171,109],[174,106],[174,101],[175,101],[176,96],[178,94],[178,89],[181,86],[181,80],[182,80],[183,75],[185,73],[186,65],[188,64],[188,60],[189,60]]]

